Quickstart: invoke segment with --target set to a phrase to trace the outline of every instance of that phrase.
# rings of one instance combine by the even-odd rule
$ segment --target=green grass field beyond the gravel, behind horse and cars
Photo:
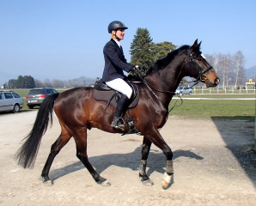
[[[26,104],[29,89],[14,89],[14,91],[23,97],[24,107],[21,111],[31,111]],[[255,98],[255,94],[193,94],[181,98]],[[175,101],[171,101],[169,108],[174,106]],[[178,100],[170,116],[255,121],[255,100],[183,100],[183,104],[179,106],[180,103],[181,100]]]

